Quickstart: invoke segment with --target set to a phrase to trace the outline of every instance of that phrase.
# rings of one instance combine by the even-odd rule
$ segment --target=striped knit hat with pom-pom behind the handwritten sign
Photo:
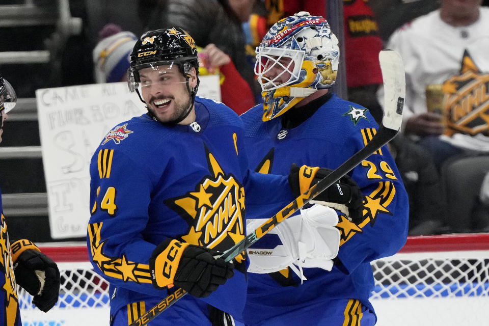
[[[96,83],[120,82],[129,68],[129,55],[137,40],[131,32],[119,32],[98,42],[93,49]]]

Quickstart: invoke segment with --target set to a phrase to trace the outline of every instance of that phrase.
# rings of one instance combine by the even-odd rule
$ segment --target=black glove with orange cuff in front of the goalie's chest
[[[298,197],[309,190],[333,170],[327,168],[312,168],[295,163],[290,167],[289,185],[294,196]],[[335,208],[349,217],[351,222],[360,223],[363,220],[363,194],[357,183],[348,175],[332,184],[317,195],[311,203],[317,203]]]

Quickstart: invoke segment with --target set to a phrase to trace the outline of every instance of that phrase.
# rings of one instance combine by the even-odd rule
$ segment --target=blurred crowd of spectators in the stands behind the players
[[[39,3],[42,5],[42,1]],[[70,2],[72,16],[81,17],[84,23],[82,33],[70,37],[61,53],[61,62],[58,63],[62,67],[60,76],[47,78],[50,70],[46,65],[0,66],[4,76],[9,76],[11,84],[15,85],[19,97],[34,97],[38,88],[125,80],[135,35],[179,25],[194,37],[196,45],[202,49],[204,57],[201,59],[205,58],[203,62],[206,64],[201,66],[201,74],[219,73],[222,101],[241,114],[261,101],[260,88],[252,74],[254,47],[269,26],[298,11],[332,19],[328,17],[327,0],[106,0],[91,6],[86,5],[88,3]],[[430,40],[429,33],[426,33],[423,47],[416,47],[420,37],[416,31],[412,32],[416,23],[411,21],[438,10],[441,3],[457,5],[455,0],[343,0],[344,53],[341,56],[345,64],[347,96],[348,100],[367,107],[379,122],[383,103],[378,100],[382,98],[381,93],[377,94],[377,90],[382,88],[378,51],[385,47],[398,50],[403,56],[408,79],[408,110],[405,111],[425,117],[420,122],[411,120],[413,115],[408,114],[405,120],[407,122],[409,118],[410,123],[404,124],[403,132],[389,145],[410,196],[410,234],[489,232],[489,142],[484,143],[486,140],[483,138],[489,135],[489,119],[480,129],[474,128],[484,125],[484,122],[474,121],[467,128],[457,127],[458,120],[447,125],[447,122],[441,123],[440,115],[427,116],[426,105],[420,104],[426,101],[425,85],[421,85],[421,81],[426,85],[445,87],[453,84],[444,83],[453,77],[453,74],[445,72],[454,67],[442,66],[439,69],[444,71],[440,74],[436,65],[425,61],[448,62],[451,60],[448,59],[451,55],[448,51],[453,48],[443,48],[441,53],[430,52],[429,48],[436,40]],[[489,74],[487,51],[482,53],[485,58],[476,52],[484,46],[485,49],[489,47],[489,9],[485,7],[488,1],[472,0],[472,3],[480,12],[475,20],[465,22],[461,15],[460,22],[450,24],[442,17],[439,23],[445,25],[437,37],[449,37],[447,42],[452,42],[452,36],[459,35],[460,42],[453,45],[455,50],[469,48],[472,51],[463,62],[457,62],[461,64],[459,75],[472,71],[472,78],[485,80],[489,88],[487,79],[484,79]],[[484,6],[483,9],[479,10],[479,5]],[[453,17],[458,17],[457,13],[453,13]],[[426,18],[420,19],[426,21]],[[334,32],[338,35],[337,31]],[[52,30],[48,28],[0,29],[0,36],[6,41],[3,42],[3,50],[21,50],[22,43],[30,43],[29,49],[42,48],[43,39],[50,33]],[[480,46],[474,46],[478,40]],[[430,54],[437,57],[429,59],[427,56]],[[418,59],[421,60],[419,64]],[[422,101],[415,103],[416,96]],[[418,107],[413,107],[415,104]],[[485,105],[487,113],[480,114],[481,119],[489,117],[488,106]],[[437,124],[434,128],[438,128],[436,131],[423,129],[434,123]],[[470,145],[460,146],[446,139],[440,143],[440,135],[448,138],[454,133],[467,135]],[[478,143],[471,143],[473,139]],[[3,185],[4,192],[9,192],[8,187],[8,184]]]

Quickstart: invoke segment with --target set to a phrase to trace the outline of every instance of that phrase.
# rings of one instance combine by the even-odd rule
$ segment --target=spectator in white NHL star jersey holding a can
[[[489,124],[480,100],[489,77],[489,8],[481,3],[442,0],[439,10],[405,24],[387,45],[401,54],[406,70],[402,130],[432,155],[446,188],[447,223],[464,232],[480,230],[472,213],[480,208],[477,191],[489,167]],[[427,87],[438,90],[428,96],[441,103],[438,112],[428,110]]]

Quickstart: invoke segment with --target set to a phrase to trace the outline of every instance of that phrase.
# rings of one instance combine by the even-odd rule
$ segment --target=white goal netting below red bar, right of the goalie
[[[372,270],[378,326],[487,324],[489,234],[410,237]]]

